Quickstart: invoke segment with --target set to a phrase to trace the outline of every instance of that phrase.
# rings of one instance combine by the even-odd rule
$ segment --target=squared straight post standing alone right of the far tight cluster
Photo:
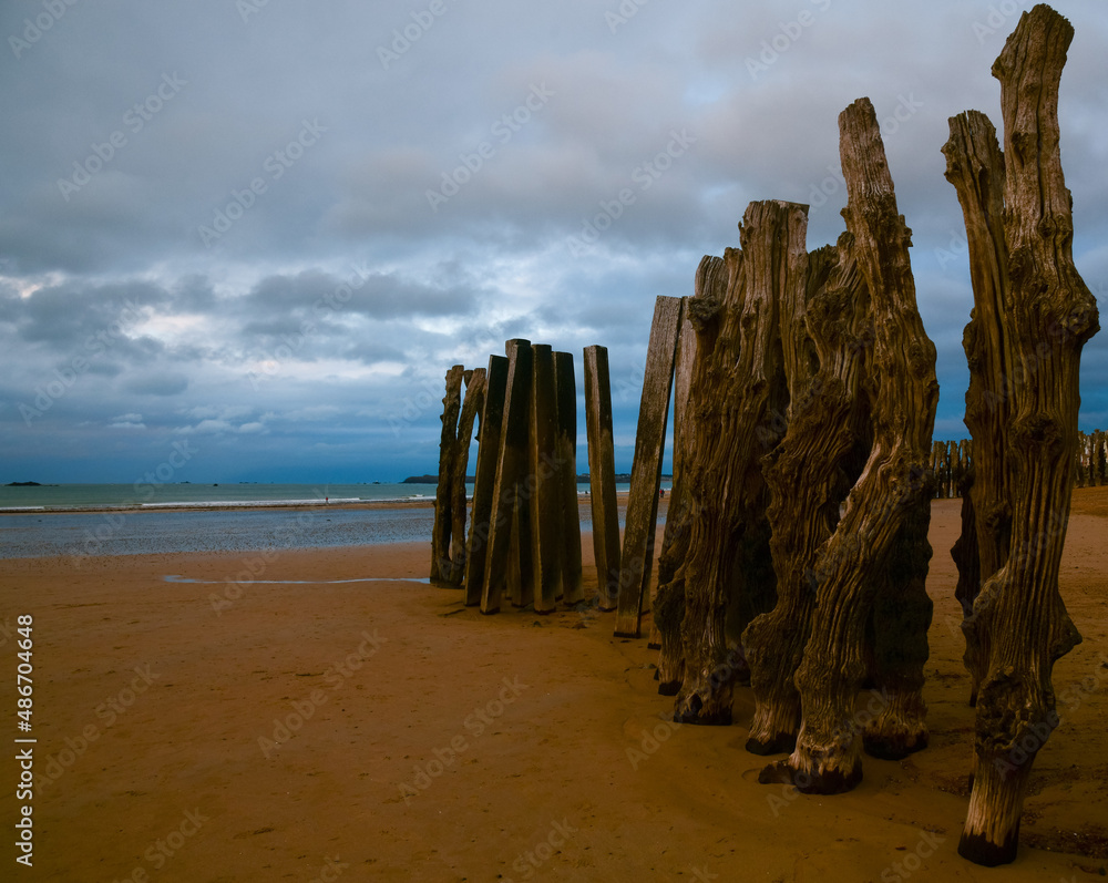
[[[602,610],[614,610],[619,598],[619,510],[606,347],[585,347],[585,430],[596,594]]]

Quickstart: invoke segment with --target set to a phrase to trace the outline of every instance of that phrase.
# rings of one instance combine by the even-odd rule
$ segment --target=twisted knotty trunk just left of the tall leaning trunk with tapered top
[[[866,434],[861,381],[872,319],[853,237],[844,233],[837,247],[811,253],[803,283],[804,289],[792,287],[791,318],[782,319],[789,428],[763,461],[777,604],[742,634],[755,694],[747,750],[757,754],[796,747],[801,708],[793,677],[815,607],[812,566],[856,479],[856,470],[848,476],[848,464]]]

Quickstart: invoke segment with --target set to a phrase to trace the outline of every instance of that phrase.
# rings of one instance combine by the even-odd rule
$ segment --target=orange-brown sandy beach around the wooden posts
[[[0,623],[34,617],[38,742],[34,866],[14,861],[9,750],[0,879],[1099,879],[1108,489],[1075,492],[1061,591],[1085,643],[1055,667],[1064,723],[1036,761],[1019,856],[995,870],[956,854],[974,722],[947,553],[958,505],[934,504],[932,745],[866,758],[832,798],[757,783],[747,688],[736,726],[669,723],[656,653],[614,639],[612,615],[483,617],[455,591],[321,583],[422,577],[425,544],[254,556],[259,579],[309,582],[247,585],[218,614],[212,594],[252,556],[2,561]],[[595,588],[587,538],[585,555]],[[8,709],[14,638],[0,630]]]

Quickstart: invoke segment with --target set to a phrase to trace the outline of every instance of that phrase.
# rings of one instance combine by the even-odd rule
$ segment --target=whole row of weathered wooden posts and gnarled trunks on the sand
[[[863,748],[896,759],[927,745],[931,500],[961,493],[952,554],[977,710],[958,852],[985,865],[1015,858],[1032,766],[1058,726],[1053,665],[1080,641],[1058,592],[1066,517],[1075,483],[1105,478],[1104,433],[1083,440],[1077,431],[1080,353],[1099,325],[1073,264],[1058,152],[1058,86],[1073,35],[1047,6],[1023,13],[993,65],[1003,152],[984,114],[950,120],[946,177],[963,209],[974,292],[964,335],[972,445],[933,442],[935,348],[916,305],[911,230],[876,113],[860,99],[839,117],[848,203],[835,245],[807,250],[808,206],[755,202],[739,226],[741,247],[700,263],[695,296],[657,300],[623,553],[617,561],[597,552],[602,604],[615,600],[617,634],[637,636],[653,605],[659,692],[675,696],[675,719],[730,723],[733,688],[749,679],[747,749],[789,754],[759,781],[838,793],[861,781]],[[561,409],[568,387],[558,387],[556,370],[547,380],[548,369],[532,369],[538,348],[524,343],[509,341],[502,405],[490,383],[482,409],[464,567],[466,602],[485,613],[499,608],[505,586],[526,604],[529,581],[536,610],[553,609],[553,586],[581,597],[579,525],[570,531],[577,571],[552,565],[562,567],[557,578],[540,563],[544,551],[551,561],[572,555],[535,526],[543,517],[570,524],[565,513],[576,512],[567,495],[547,511],[537,490],[540,464],[552,458],[556,471],[565,450],[551,446],[540,401]],[[586,351],[586,377],[588,366]],[[674,387],[674,491],[650,598]],[[598,476],[593,442],[603,434],[594,435],[592,412],[601,404],[586,398],[589,472]],[[449,382],[445,402],[450,418]],[[568,413],[554,419],[561,431]],[[448,423],[443,450],[459,452],[469,435],[450,435]],[[456,514],[456,496],[442,496],[448,474],[456,486],[456,465],[440,470],[432,575],[458,577],[460,558],[443,557],[438,524]],[[607,526],[594,524],[597,533]],[[866,681],[882,708],[861,726],[854,709]]]

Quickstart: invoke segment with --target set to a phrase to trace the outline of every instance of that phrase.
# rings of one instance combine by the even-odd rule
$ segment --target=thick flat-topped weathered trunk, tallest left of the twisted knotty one
[[[751,203],[739,227],[742,250],[728,248],[724,256],[721,309],[698,329],[687,463],[695,514],[678,574],[685,584],[685,675],[675,720],[731,722],[733,685],[746,670],[738,637],[773,604],[760,458],[784,433],[779,322],[784,292],[806,271],[807,229],[807,206]]]

